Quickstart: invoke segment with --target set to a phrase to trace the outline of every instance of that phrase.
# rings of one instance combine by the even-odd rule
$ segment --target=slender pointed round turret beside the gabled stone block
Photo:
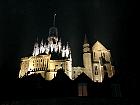
[[[91,62],[91,50],[85,35],[83,44],[83,64],[85,67],[85,74],[93,80],[92,76],[92,62]]]

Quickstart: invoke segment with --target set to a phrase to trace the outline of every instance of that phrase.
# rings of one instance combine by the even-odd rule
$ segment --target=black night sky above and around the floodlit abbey
[[[32,53],[36,37],[47,39],[54,13],[59,37],[63,43],[70,43],[73,66],[82,66],[86,33],[91,46],[99,40],[111,50],[113,65],[119,72],[131,73],[130,54],[134,52],[130,46],[137,22],[134,1],[9,0],[0,3],[1,79],[16,78],[20,58]]]

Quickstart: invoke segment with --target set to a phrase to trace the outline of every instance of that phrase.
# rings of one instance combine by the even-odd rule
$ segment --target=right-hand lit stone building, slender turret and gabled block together
[[[115,74],[110,50],[107,50],[99,41],[91,49],[86,37],[83,44],[83,64],[84,73],[94,82],[102,82],[105,75],[111,78]]]

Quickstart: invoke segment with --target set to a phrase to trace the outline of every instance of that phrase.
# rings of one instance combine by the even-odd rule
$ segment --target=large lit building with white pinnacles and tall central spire
[[[58,30],[55,24],[49,29],[47,40],[47,43],[43,40],[40,44],[36,42],[32,56],[21,59],[19,78],[40,73],[46,80],[52,80],[56,76],[57,70],[63,69],[72,79],[71,50],[68,43],[63,45],[61,39],[58,38]]]

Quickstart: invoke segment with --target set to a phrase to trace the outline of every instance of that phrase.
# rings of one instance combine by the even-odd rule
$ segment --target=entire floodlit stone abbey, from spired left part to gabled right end
[[[111,78],[115,74],[110,50],[99,41],[90,48],[86,36],[83,43],[83,64],[84,67],[72,67],[70,46],[61,42],[54,24],[49,29],[47,42],[36,42],[32,56],[21,58],[19,78],[40,73],[46,80],[52,80],[57,70],[63,69],[72,80],[84,72],[92,81],[102,82],[105,75]]]

